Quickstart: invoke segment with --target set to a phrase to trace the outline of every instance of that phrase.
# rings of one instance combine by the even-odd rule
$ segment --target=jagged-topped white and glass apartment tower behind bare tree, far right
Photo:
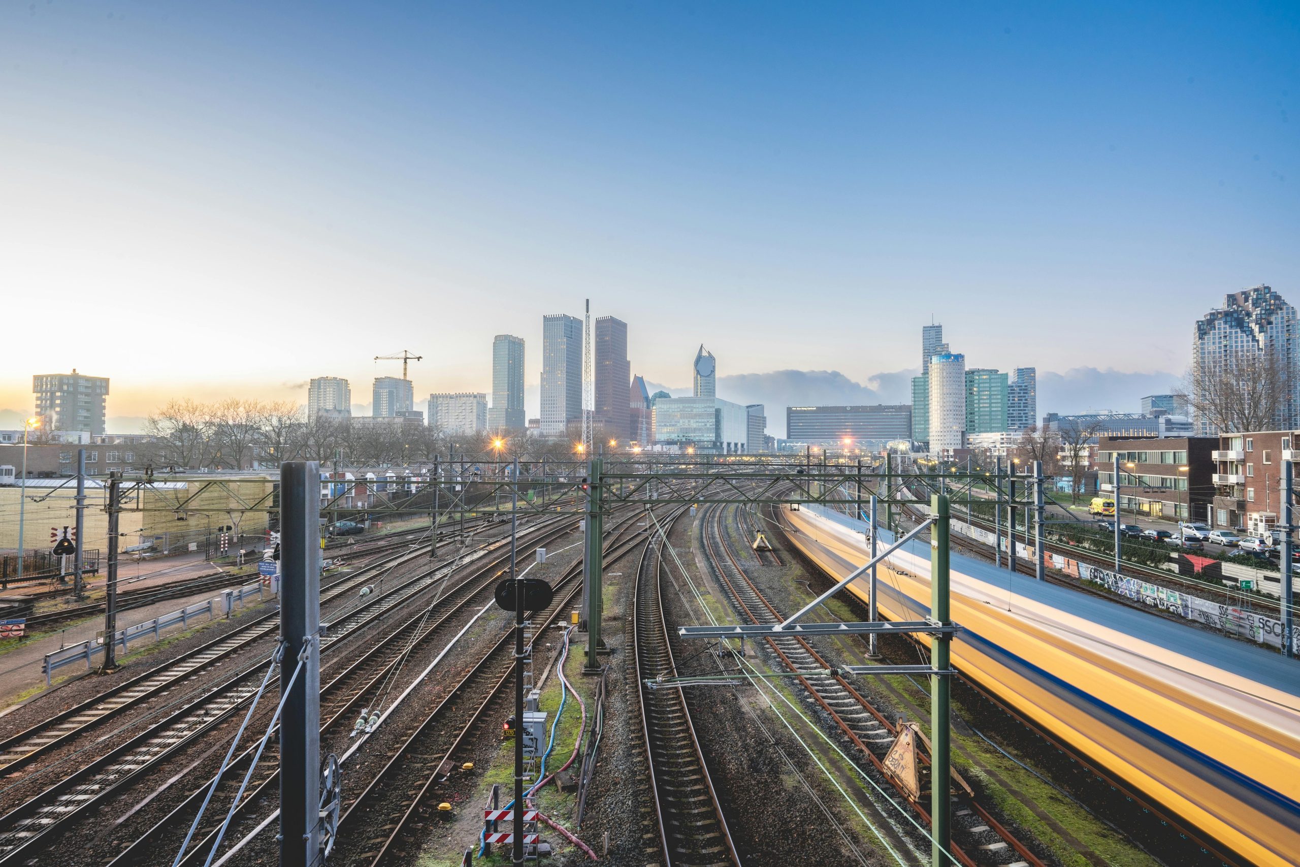
[[[1273,357],[1286,365],[1290,376],[1282,381],[1300,382],[1300,324],[1296,308],[1282,300],[1269,286],[1254,286],[1232,292],[1223,299],[1223,307],[1210,311],[1196,324],[1192,342],[1192,385],[1213,381],[1218,372],[1228,373],[1235,363],[1245,359]],[[1271,430],[1292,430],[1300,425],[1300,394],[1292,385],[1283,395],[1274,415]],[[1193,395],[1193,403],[1197,395]],[[1200,435],[1219,432],[1209,419],[1196,419]]]

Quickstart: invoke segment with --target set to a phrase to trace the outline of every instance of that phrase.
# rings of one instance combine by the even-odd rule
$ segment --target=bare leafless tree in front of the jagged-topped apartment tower
[[[1222,361],[1193,364],[1175,395],[1222,433],[1275,430],[1295,411],[1296,370],[1271,352],[1228,352]]]

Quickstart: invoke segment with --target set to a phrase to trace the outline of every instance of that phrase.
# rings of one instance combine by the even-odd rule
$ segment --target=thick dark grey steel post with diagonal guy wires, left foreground
[[[315,460],[280,465],[281,867],[309,867],[320,858],[320,486]]]

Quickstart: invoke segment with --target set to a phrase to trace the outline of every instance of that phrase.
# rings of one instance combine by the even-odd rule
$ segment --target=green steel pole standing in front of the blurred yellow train
[[[942,625],[949,625],[949,502],[946,497],[933,494],[930,498],[931,512],[935,523],[930,528],[930,537],[933,543],[930,547],[930,611],[931,617]],[[931,640],[930,664],[936,672],[948,671],[950,658],[950,640],[948,636],[935,636]],[[932,867],[944,867],[949,863],[948,848],[950,841],[948,780],[948,725],[949,725],[949,684],[948,675],[931,675],[930,677],[930,738],[932,749],[930,751],[930,816],[931,816],[931,849],[930,863]]]

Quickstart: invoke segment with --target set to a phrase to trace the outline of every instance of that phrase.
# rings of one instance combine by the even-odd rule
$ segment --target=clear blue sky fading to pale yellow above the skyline
[[[507,331],[532,385],[585,296],[656,382],[703,342],[872,387],[933,316],[1128,408],[1225,292],[1300,303],[1297,97],[1295,3],[9,4],[0,408],[367,394],[399,347],[488,390]]]

